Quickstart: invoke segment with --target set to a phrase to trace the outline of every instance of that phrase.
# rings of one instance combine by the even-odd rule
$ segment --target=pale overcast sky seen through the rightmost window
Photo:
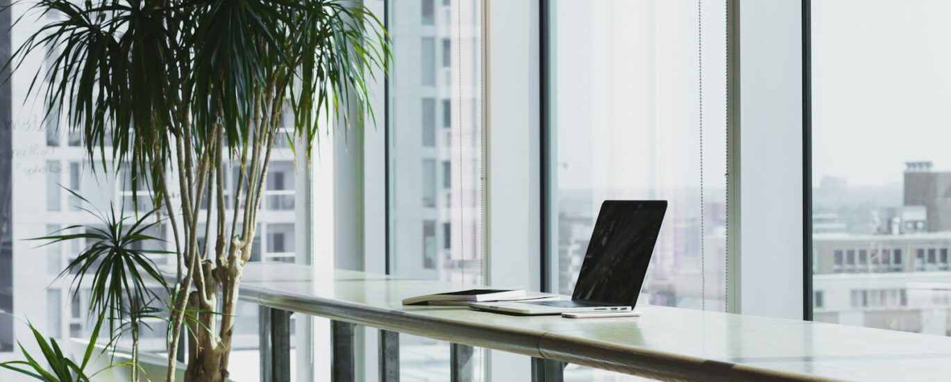
[[[814,181],[951,171],[951,1],[812,2]],[[818,183],[815,183],[818,186]]]

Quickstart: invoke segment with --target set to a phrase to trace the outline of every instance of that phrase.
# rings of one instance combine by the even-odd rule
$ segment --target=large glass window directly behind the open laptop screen
[[[725,2],[554,0],[548,20],[549,288],[572,294],[604,200],[661,199],[638,304],[725,311]]]

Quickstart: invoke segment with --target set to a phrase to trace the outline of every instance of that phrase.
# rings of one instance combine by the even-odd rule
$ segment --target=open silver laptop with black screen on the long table
[[[602,203],[571,300],[471,303],[469,307],[519,315],[632,311],[666,211],[666,200]]]

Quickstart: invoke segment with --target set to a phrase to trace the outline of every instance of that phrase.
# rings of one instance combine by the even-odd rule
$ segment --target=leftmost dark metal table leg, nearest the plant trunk
[[[291,380],[291,312],[261,306],[258,334],[261,346],[261,380]]]

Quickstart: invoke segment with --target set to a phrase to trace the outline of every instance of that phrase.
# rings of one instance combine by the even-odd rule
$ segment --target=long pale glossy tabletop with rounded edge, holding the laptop
[[[264,306],[615,372],[692,380],[936,380],[951,338],[819,322],[638,306],[640,317],[515,316],[405,307],[467,288],[359,271],[251,264],[241,298]],[[471,288],[468,287],[468,288]]]

